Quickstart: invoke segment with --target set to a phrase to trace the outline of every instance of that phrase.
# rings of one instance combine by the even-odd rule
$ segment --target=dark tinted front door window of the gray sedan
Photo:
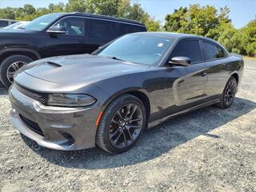
[[[178,42],[178,45],[174,48],[174,51],[170,54],[170,58],[174,57],[187,57],[191,59],[191,62],[202,61],[201,49],[198,40],[182,40]]]

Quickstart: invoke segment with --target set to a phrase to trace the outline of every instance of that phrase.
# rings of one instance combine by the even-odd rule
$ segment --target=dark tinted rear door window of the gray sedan
[[[225,57],[224,50],[222,50],[222,48],[220,48],[219,46],[215,46],[210,42],[202,42],[202,43],[205,49],[206,60]]]

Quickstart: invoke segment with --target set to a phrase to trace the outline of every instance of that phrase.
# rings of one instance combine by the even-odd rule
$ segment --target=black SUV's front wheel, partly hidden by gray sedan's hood
[[[15,62],[16,65],[13,65],[12,67],[12,64],[14,64]],[[33,62],[33,60],[20,54],[12,55],[3,60],[0,66],[0,80],[2,84],[6,87],[9,87],[13,82],[13,78],[10,77],[11,75],[7,77],[7,71],[10,71],[10,74],[12,74],[16,72],[20,67],[26,65],[29,62]]]

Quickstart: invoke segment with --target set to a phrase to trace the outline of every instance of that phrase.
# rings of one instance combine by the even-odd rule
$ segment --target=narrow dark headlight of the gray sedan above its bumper
[[[49,94],[49,106],[90,106],[96,99],[87,94]]]

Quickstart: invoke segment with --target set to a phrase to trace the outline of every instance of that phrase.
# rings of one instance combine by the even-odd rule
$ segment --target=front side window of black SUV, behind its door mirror
[[[85,21],[83,18],[64,18],[55,26],[66,27],[66,35],[69,36],[84,36],[85,35]]]

